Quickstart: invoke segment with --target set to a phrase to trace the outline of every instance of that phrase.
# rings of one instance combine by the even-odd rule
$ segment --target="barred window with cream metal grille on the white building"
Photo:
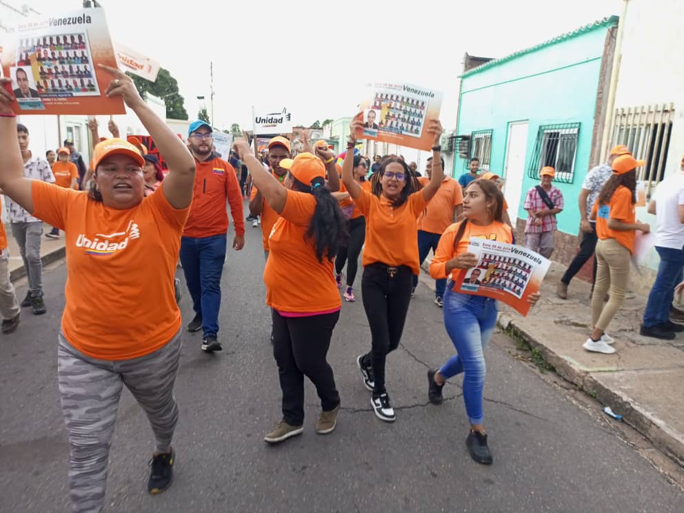
[[[672,135],[672,103],[618,108],[615,111],[611,146],[624,144],[636,159],[646,164],[637,168],[636,179],[645,181],[646,194],[665,177],[667,151]]]

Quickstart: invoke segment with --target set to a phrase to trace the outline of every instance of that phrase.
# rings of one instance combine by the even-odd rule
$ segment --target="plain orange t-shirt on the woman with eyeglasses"
[[[407,265],[413,274],[420,274],[416,219],[427,205],[423,191],[410,194],[399,208],[363,188],[354,201],[365,216],[363,267],[374,262],[392,267]]]

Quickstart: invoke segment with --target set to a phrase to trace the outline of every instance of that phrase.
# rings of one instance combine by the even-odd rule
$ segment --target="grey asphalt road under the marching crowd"
[[[356,356],[370,345],[359,297],[343,304],[330,350],[343,401],[336,430],[314,433],[318,398],[307,383],[303,436],[267,445],[263,435],[280,419],[281,396],[262,270],[261,236],[250,227],[245,249],[230,250],[223,272],[223,352],[204,354],[200,334],[184,336],[175,481],[159,496],[145,492],[152,432],[124,392],[108,512],[684,511],[681,490],[496,344],[487,349],[485,385],[494,465],[474,463],[465,449],[460,379],[445,388],[443,405],[427,402],[426,369],[445,361],[453,346],[425,285],[412,300],[402,346],[388,357],[396,422],[372,414],[356,369]],[[24,310],[19,330],[0,337],[0,512],[69,510],[56,378],[65,280],[63,263],[48,270],[48,313]],[[18,296],[25,290],[19,283]],[[92,315],[110,315],[92,301]],[[192,308],[185,289],[181,309],[187,323]],[[117,319],[111,321],[115,327]]]

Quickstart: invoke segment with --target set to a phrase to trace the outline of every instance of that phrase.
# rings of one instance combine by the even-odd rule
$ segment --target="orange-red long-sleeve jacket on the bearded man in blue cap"
[[[245,234],[242,192],[232,165],[214,154],[203,161],[197,161],[197,174],[194,179],[192,206],[188,222],[185,223],[183,237],[212,237],[228,231],[228,212],[225,202],[230,205],[230,215],[235,225],[235,234]]]

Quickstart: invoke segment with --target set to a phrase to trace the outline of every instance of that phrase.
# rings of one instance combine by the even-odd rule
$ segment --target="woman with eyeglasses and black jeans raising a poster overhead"
[[[432,155],[440,162],[442,126],[432,119],[427,130],[434,137]],[[363,132],[363,114],[350,127],[348,148]],[[430,182],[421,189],[401,158],[385,159],[370,192],[354,180],[354,161],[345,159],[342,181],[365,217],[361,294],[372,337],[371,350],[356,359],[365,388],[373,392],[371,405],[376,416],[394,421],[394,409],[385,388],[385,359],[399,347],[414,274],[419,274],[417,218],[434,197],[444,177],[441,164],[433,165]]]

